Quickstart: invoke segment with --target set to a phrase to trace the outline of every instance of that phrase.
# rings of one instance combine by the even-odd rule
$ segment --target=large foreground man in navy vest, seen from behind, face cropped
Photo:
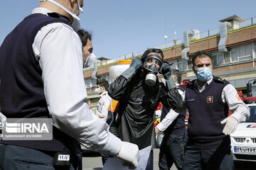
[[[52,118],[53,140],[1,139],[0,169],[82,169],[79,143],[137,166],[137,145],[112,135],[85,103],[77,33],[82,5],[82,0],[41,1],[1,44],[1,113],[7,122]]]

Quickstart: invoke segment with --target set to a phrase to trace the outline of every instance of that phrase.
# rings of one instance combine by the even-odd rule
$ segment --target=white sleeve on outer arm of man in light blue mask
[[[223,88],[224,102],[227,102],[228,108],[233,113],[232,117],[238,120],[238,123],[244,122],[250,116],[250,109],[242,101],[238,92],[232,84]]]

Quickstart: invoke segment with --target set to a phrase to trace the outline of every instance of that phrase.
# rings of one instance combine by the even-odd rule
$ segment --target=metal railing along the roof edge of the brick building
[[[256,24],[256,17],[249,18],[249,19],[239,23],[239,29],[240,28],[245,28],[247,26],[252,26],[252,25],[255,25],[255,24]],[[233,26],[230,26],[230,28],[228,28],[228,31],[232,31],[232,30],[234,30]],[[214,28],[212,30],[207,30],[207,31],[199,33],[200,38],[198,40],[203,39],[203,38],[209,38],[211,36],[219,35],[219,34],[220,34],[220,28]],[[177,45],[182,45],[183,43],[184,43],[183,38],[180,38],[180,39],[176,40],[176,42],[166,42],[164,44],[156,45],[154,47],[163,50],[163,49],[166,49],[166,48],[169,48],[169,47],[175,47]],[[148,48],[150,48],[150,47],[147,47],[146,49],[148,49]],[[118,60],[127,60],[129,58],[142,55],[146,49],[139,50],[139,51],[136,51],[136,52],[130,52],[126,55],[121,55],[119,57],[114,57],[114,58],[111,59],[112,60],[111,62],[106,62],[105,64],[110,64],[110,63],[113,63],[113,62],[117,62]],[[99,62],[99,60],[98,60],[98,62]],[[102,62],[100,62],[100,63],[102,63]],[[98,64],[98,66],[100,66],[100,65],[102,65],[102,64]],[[88,69],[92,69],[92,68],[93,67],[89,67]]]

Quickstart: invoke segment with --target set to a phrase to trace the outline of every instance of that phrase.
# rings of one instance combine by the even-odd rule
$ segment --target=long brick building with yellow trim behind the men
[[[198,50],[207,50],[213,55],[213,74],[230,81],[237,90],[246,96],[247,82],[256,79],[256,17],[247,20],[238,16],[230,16],[220,21],[219,28],[199,33],[198,30],[185,30],[181,39],[155,46],[164,51],[164,60],[172,64],[173,69],[182,72],[182,79],[193,80],[191,55]],[[145,49],[146,50],[146,49]],[[114,81],[110,75],[110,67],[118,60],[132,60],[142,57],[145,50],[132,52],[112,60],[97,60],[97,68],[85,69],[84,78],[88,99],[92,103],[92,111],[99,96],[95,94],[96,77]],[[96,64],[95,64],[96,65]],[[252,85],[255,86],[255,85]],[[252,93],[256,96],[255,91]]]

